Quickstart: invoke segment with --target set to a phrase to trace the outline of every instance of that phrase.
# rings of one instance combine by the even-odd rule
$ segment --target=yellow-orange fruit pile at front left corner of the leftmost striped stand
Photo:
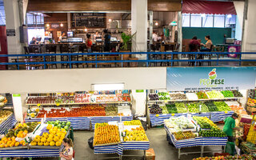
[[[2,138],[0,141],[0,147],[1,148],[7,148],[7,147],[14,147],[14,146],[27,146],[27,142],[22,140],[21,142],[18,142],[15,140],[15,137],[12,138]]]

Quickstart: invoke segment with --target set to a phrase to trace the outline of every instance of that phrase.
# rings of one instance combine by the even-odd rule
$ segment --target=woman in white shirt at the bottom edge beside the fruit
[[[62,144],[65,148],[64,151],[59,154],[61,160],[74,160],[72,140],[70,138],[64,138]]]

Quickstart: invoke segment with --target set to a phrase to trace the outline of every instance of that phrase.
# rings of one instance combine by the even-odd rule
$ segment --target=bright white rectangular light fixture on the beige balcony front
[[[92,90],[124,90],[124,83],[114,83],[114,84],[92,84]]]

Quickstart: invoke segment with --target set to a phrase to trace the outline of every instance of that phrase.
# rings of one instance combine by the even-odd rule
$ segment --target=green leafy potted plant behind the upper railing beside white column
[[[131,40],[134,37],[134,35],[136,34],[136,32],[133,35],[130,34],[126,34],[126,33],[122,33],[121,34],[121,38],[122,38],[122,46],[120,47],[120,52],[130,52],[131,51]],[[122,60],[138,60],[138,58],[131,58],[130,54],[122,54]],[[127,66],[128,63],[124,62],[123,66]],[[130,66],[137,66],[136,62],[130,62]]]

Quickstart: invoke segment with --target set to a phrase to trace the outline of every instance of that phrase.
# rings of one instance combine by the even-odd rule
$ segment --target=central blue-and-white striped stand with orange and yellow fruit
[[[111,134],[108,134],[111,133]],[[118,154],[123,150],[144,150],[150,142],[139,120],[97,123],[94,130],[94,154]]]

